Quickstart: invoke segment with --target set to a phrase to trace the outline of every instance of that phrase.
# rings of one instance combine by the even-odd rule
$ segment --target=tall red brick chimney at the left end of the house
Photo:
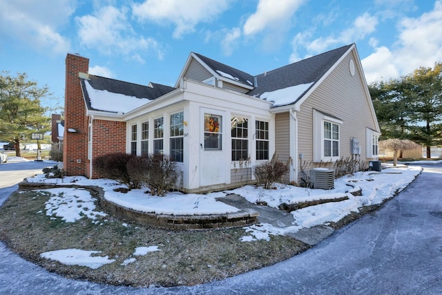
[[[77,54],[66,56],[64,93],[63,164],[67,175],[86,175],[88,162],[88,121],[79,73],[88,73],[89,59]]]

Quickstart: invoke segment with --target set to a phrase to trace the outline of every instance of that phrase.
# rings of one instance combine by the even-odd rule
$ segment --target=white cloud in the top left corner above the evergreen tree
[[[0,0],[0,34],[52,53],[66,53],[70,42],[57,32],[75,11],[75,0],[59,0],[47,5],[39,1]]]

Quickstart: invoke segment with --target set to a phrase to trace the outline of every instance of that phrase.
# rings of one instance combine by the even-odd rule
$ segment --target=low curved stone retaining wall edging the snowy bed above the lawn
[[[96,186],[79,186],[75,184],[48,184],[38,182],[20,182],[19,189],[52,189],[56,187],[73,187],[88,189],[96,194],[104,211],[111,216],[131,220],[152,227],[163,229],[219,229],[224,227],[244,227],[258,222],[258,212],[248,213],[238,211],[234,213],[211,214],[211,215],[167,215],[137,211],[122,207],[119,204],[106,200],[104,191]]]

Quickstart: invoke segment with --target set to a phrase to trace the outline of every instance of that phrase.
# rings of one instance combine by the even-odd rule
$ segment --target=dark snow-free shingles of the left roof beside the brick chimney
[[[86,101],[86,106],[89,110],[96,110],[90,106],[90,98],[88,92],[86,91],[86,85],[84,84],[85,79],[81,79],[81,88],[83,88],[84,99]],[[162,84],[151,83],[152,87],[144,86],[140,84],[133,84],[129,82],[124,82],[120,80],[110,79],[106,77],[99,77],[95,75],[89,75],[88,83],[92,88],[101,91],[108,91],[111,93],[119,93],[122,95],[133,96],[137,98],[147,98],[147,99],[156,99],[174,91],[175,88],[171,86],[166,86]]]

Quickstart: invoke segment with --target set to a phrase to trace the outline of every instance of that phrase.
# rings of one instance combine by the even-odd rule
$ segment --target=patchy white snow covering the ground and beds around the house
[[[438,161],[437,163],[441,163]],[[432,163],[436,163],[432,161]],[[421,164],[428,164],[421,162]],[[329,222],[338,221],[352,211],[371,204],[380,204],[387,198],[392,198],[394,193],[403,190],[410,182],[421,173],[420,166],[390,166],[384,165],[381,172],[365,171],[354,175],[347,175],[336,180],[335,188],[332,190],[306,189],[285,184],[277,184],[276,189],[263,189],[262,187],[245,186],[230,191],[207,194],[184,194],[179,192],[168,193],[164,197],[150,196],[146,189],[133,189],[128,193],[114,191],[124,187],[113,180],[88,180],[83,176],[71,176],[64,179],[45,178],[43,174],[27,178],[28,182],[46,182],[53,184],[76,184],[96,185],[104,189],[104,198],[111,200],[122,207],[128,207],[137,211],[155,212],[158,214],[174,215],[206,215],[217,213],[229,213],[240,209],[218,202],[215,198],[222,198],[230,193],[236,193],[249,202],[267,202],[269,207],[278,208],[282,202],[293,204],[309,200],[321,200],[348,197],[348,200],[341,202],[329,202],[318,204],[303,209],[292,211],[294,224],[289,227],[273,227],[269,224],[252,225],[244,227],[242,241],[269,240],[271,235],[283,235],[296,232],[302,228],[314,227],[316,225],[327,225]],[[362,189],[362,196],[353,196],[352,191]],[[80,218],[90,218],[91,222],[99,223],[97,216],[106,216],[106,213],[95,211],[95,199],[84,189],[77,188],[54,188],[46,189],[51,194],[46,202],[46,215],[57,216],[65,222],[75,222]],[[39,211],[37,213],[44,213]],[[141,248],[140,248],[141,249]],[[160,251],[157,246],[149,246],[148,249],[140,250],[142,255],[148,251]],[[94,255],[93,255],[94,254]],[[113,263],[106,256],[96,255],[96,251],[81,251],[79,249],[60,249],[50,253],[42,253],[42,257],[59,260],[61,263],[85,265],[97,268],[106,263]],[[93,255],[93,256],[91,256]],[[138,255],[137,251],[133,254]],[[125,263],[135,261],[128,258]]]

